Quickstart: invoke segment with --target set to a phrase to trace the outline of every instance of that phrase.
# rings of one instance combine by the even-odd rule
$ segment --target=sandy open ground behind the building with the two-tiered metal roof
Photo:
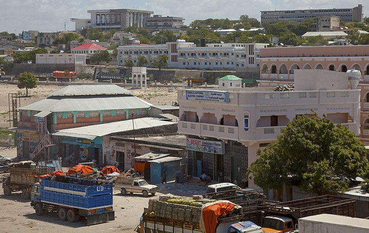
[[[92,82],[92,81],[90,81]],[[0,128],[9,127],[9,98],[8,93],[20,94],[20,106],[24,106],[38,100],[48,97],[48,94],[63,88],[61,85],[38,85],[34,89],[28,90],[28,97],[26,97],[26,90],[19,89],[15,84],[0,83]],[[169,85],[168,85],[169,87]],[[135,96],[148,101],[154,105],[172,105],[172,102],[177,100],[177,91],[175,87],[174,92],[168,92],[168,87],[147,87],[146,92],[142,89],[131,89],[131,87],[124,87],[135,92]],[[11,104],[11,103],[10,103]],[[18,103],[19,104],[19,103]],[[19,106],[19,105],[18,105]],[[12,106],[10,105],[10,109]]]

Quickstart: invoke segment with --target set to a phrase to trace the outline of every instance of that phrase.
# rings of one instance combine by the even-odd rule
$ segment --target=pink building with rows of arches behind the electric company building
[[[360,135],[369,146],[369,46],[312,46],[260,49],[260,87],[294,83],[296,69],[324,69],[346,72],[357,69],[360,91]]]

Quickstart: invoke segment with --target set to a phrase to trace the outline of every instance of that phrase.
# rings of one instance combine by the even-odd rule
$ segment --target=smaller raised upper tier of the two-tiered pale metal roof
[[[114,84],[68,85],[59,90],[53,91],[52,93],[49,93],[49,96],[82,96],[131,93],[133,92]]]

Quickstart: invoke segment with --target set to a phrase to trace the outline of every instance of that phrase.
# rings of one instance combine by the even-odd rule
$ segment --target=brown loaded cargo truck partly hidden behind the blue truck
[[[39,181],[40,175],[49,174],[55,170],[55,167],[52,166],[25,166],[28,167],[9,167],[9,175],[4,177],[2,181],[5,196],[10,196],[12,192],[22,191],[20,197],[30,199],[32,186]]]

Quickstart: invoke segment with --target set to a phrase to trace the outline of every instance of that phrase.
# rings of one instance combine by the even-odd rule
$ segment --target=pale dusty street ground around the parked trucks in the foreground
[[[1,148],[0,154],[4,156],[16,157],[15,148]],[[63,167],[63,171],[67,171]],[[7,173],[0,174],[0,177]],[[1,179],[2,180],[2,179]],[[20,198],[20,192],[14,192],[6,197],[3,189],[0,188],[0,232],[1,233],[98,233],[98,232],[122,232],[134,233],[134,229],[140,222],[143,208],[147,208],[150,198],[158,199],[161,195],[169,196],[192,196],[204,194],[206,186],[199,186],[191,183],[158,184],[159,193],[155,196],[150,195],[145,198],[141,194],[128,194],[122,196],[118,190],[113,193],[113,208],[115,211],[115,220],[87,226],[86,219],[80,219],[78,222],[70,223],[61,221],[56,213],[49,213],[44,216],[37,216],[35,210],[31,207],[29,200]]]

